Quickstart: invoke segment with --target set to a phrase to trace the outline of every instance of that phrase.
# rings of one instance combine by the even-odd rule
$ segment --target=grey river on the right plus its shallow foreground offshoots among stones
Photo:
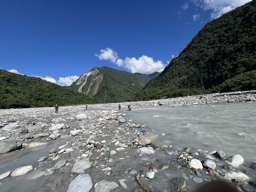
[[[145,123],[147,124],[146,132],[159,135],[159,138],[153,141],[153,144],[158,147],[164,144],[172,145],[172,150],[170,150],[172,152],[185,147],[191,148],[191,153],[198,152],[198,149],[209,152],[224,151],[228,156],[236,154],[243,156],[244,165],[256,162],[256,103],[183,107],[133,106],[132,111],[127,111],[126,114],[129,119],[132,119],[130,123]],[[160,171],[159,164],[156,162],[157,158],[160,158],[162,163],[172,164],[173,156],[160,151],[159,148],[153,156],[128,153],[122,163],[123,167],[131,165],[132,170],[139,171],[143,170],[142,164],[153,162],[155,178],[153,180],[142,178],[142,182],[149,188],[170,191],[168,181],[177,176],[187,177],[194,188],[198,186],[182,167],[178,171]],[[218,162],[217,159],[214,161]],[[238,171],[246,172],[250,178],[255,179],[255,170],[244,165],[240,166]],[[131,181],[132,176],[129,174],[123,176],[128,186],[126,191],[132,191],[138,187],[134,186],[134,181]]]

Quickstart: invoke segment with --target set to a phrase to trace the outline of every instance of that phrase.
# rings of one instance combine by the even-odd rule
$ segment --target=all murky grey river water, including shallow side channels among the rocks
[[[108,105],[90,106],[90,109],[106,110]],[[126,108],[126,107],[124,107]],[[191,153],[201,150],[221,150],[228,156],[240,154],[244,157],[244,165],[238,171],[246,170],[246,174],[256,179],[255,170],[246,167],[250,162],[256,162],[256,103],[223,103],[214,105],[195,105],[183,107],[168,107],[168,106],[132,106],[132,111],[126,111],[122,108],[121,113],[125,113],[130,119],[130,123],[143,123],[147,126],[144,128],[145,134],[154,133],[159,136],[157,140],[153,141],[158,148],[156,153],[152,156],[139,156],[136,150],[131,147],[126,150],[118,152],[113,156],[113,162],[110,164],[112,168],[113,180],[118,182],[119,179],[125,179],[127,189],[122,191],[132,191],[138,188],[138,184],[132,178],[134,173],[145,170],[142,164],[151,161],[155,171],[155,178],[153,180],[145,177],[140,180],[148,188],[158,188],[163,191],[170,191],[169,180],[177,177],[186,177],[191,185],[195,188],[196,184],[192,179],[193,173],[188,174],[189,168],[180,167],[178,170],[159,170],[160,164],[175,164],[173,162],[174,155],[172,154],[177,149],[185,147],[191,148]],[[114,109],[114,108],[112,108]],[[138,131],[141,131],[138,128]],[[69,138],[70,139],[70,138]],[[67,140],[69,140],[67,139]],[[19,166],[33,165],[36,167],[36,161],[41,156],[47,156],[51,148],[58,147],[65,144],[67,140],[55,140],[52,144],[39,149],[33,150],[28,154],[22,156],[19,160],[0,165],[0,174],[13,170]],[[161,151],[160,146],[167,145],[168,152]],[[171,147],[172,146],[172,147]],[[114,150],[114,146],[109,146]],[[171,147],[171,148],[170,148]],[[25,152],[26,149],[21,150]],[[8,153],[12,154],[17,151]],[[207,152],[205,152],[207,153]],[[8,155],[7,154],[7,155]],[[3,157],[4,154],[1,156]],[[161,159],[162,163],[158,163],[156,159]],[[217,163],[220,163],[216,160]],[[116,164],[115,166],[113,166]],[[132,166],[131,172],[124,172],[123,170],[128,166]],[[40,176],[40,172],[44,173],[49,165],[40,165],[36,171],[16,178],[8,177],[0,184],[0,191],[26,191],[33,192],[40,188],[47,177]],[[112,180],[109,179],[101,168],[92,168],[88,173],[93,180]],[[223,170],[220,170],[223,171]],[[133,174],[131,174],[133,173]],[[192,179],[189,177],[192,175]],[[205,180],[205,178],[204,178]],[[47,191],[47,190],[45,190]]]

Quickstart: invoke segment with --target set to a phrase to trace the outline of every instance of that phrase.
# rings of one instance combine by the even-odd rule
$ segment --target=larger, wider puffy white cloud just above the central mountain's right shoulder
[[[166,65],[162,61],[154,61],[153,58],[146,55],[136,59],[134,57],[126,57],[125,60],[118,59],[116,64],[119,67],[129,69],[132,73],[153,73],[155,71],[161,72]]]

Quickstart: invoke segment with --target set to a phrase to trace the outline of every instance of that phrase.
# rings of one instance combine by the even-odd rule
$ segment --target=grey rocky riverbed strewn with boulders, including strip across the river
[[[255,93],[233,92],[130,103],[180,106],[250,102],[255,101]],[[255,190],[254,162],[244,164],[242,156],[227,155],[217,149],[209,152],[175,149],[171,145],[155,146],[158,136],[148,132],[147,125],[129,123],[126,114],[116,108],[113,103],[92,105],[89,110],[84,106],[60,106],[58,114],[53,108],[0,110],[1,189],[20,191],[12,183],[12,178],[20,178],[27,182],[28,191],[37,192],[138,192],[142,191],[141,183],[145,184],[145,190],[153,192],[190,190],[218,179],[236,179],[234,182],[240,188]],[[40,151],[41,156],[31,155]],[[158,158],[157,154],[163,154],[164,158]],[[27,160],[21,161],[22,158]],[[132,164],[130,158],[137,163]],[[34,182],[45,181],[31,189],[31,178]],[[157,182],[163,182],[158,189]]]

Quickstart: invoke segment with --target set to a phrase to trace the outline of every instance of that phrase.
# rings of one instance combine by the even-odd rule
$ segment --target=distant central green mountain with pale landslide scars
[[[158,74],[159,72],[149,75],[132,74],[109,67],[93,68],[69,88],[91,95],[100,103],[132,101],[135,93]]]

